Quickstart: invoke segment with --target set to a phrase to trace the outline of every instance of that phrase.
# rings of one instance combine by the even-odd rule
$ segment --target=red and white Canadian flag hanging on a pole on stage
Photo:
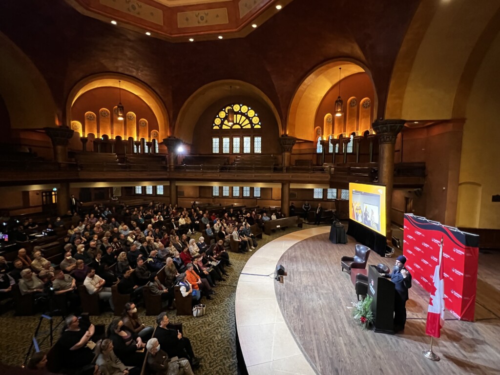
[[[425,334],[432,337],[441,336],[444,324],[444,277],[442,270],[442,241],[439,246],[439,264],[434,270],[434,290],[430,293],[429,307],[427,308],[427,323]]]

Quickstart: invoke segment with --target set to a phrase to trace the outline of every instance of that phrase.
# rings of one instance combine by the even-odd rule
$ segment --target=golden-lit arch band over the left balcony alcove
[[[153,111],[159,126],[160,137],[166,138],[170,135],[170,121],[168,112],[163,101],[158,94],[141,80],[129,75],[107,72],[89,75],[77,82],[66,100],[66,121],[69,126],[71,118],[71,106],[75,100],[83,93],[96,87],[116,87],[118,88],[118,80],[121,80],[121,89],[127,90],[142,99]],[[128,136],[128,134],[127,134]]]

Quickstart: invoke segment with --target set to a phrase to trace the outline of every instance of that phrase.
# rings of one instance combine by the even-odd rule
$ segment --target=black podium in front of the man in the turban
[[[373,328],[375,332],[394,333],[394,283],[380,276],[374,265],[368,266],[368,295],[373,298]]]

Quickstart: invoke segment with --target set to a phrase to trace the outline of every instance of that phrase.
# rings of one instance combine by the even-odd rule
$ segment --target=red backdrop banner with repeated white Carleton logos
[[[443,238],[444,305],[460,320],[474,320],[479,236],[410,213],[404,215],[403,254],[412,281],[429,293]]]

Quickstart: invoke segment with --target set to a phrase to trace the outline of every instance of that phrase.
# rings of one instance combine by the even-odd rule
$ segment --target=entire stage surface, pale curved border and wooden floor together
[[[500,256],[479,259],[475,322],[445,311],[441,337],[434,340],[439,362],[422,355],[429,347],[425,318],[429,294],[413,283],[404,332],[362,331],[351,317],[356,300],[340,256],[354,244],[332,244],[328,226],[296,231],[262,246],[247,261],[236,287],[235,317],[241,353],[250,375],[500,373],[500,324],[495,288]],[[300,243],[299,243],[300,242]],[[370,254],[368,264],[394,264]],[[284,283],[272,277],[283,264]],[[271,277],[268,275],[271,274]]]

